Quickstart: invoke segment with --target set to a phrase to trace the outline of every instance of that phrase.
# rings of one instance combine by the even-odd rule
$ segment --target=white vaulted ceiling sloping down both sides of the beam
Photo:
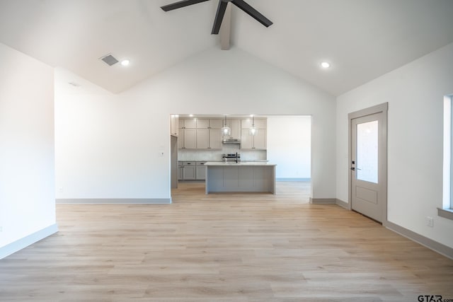
[[[0,42],[117,93],[219,47],[218,1],[161,10],[175,1],[0,0]],[[274,24],[233,6],[231,45],[333,95],[453,42],[453,0],[246,1]],[[108,53],[132,63],[110,67]]]

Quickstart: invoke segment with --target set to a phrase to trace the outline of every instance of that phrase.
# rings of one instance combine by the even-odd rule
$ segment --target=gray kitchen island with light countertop
[[[275,194],[275,164],[263,161],[215,162],[206,167],[206,194],[210,192],[269,192]]]

